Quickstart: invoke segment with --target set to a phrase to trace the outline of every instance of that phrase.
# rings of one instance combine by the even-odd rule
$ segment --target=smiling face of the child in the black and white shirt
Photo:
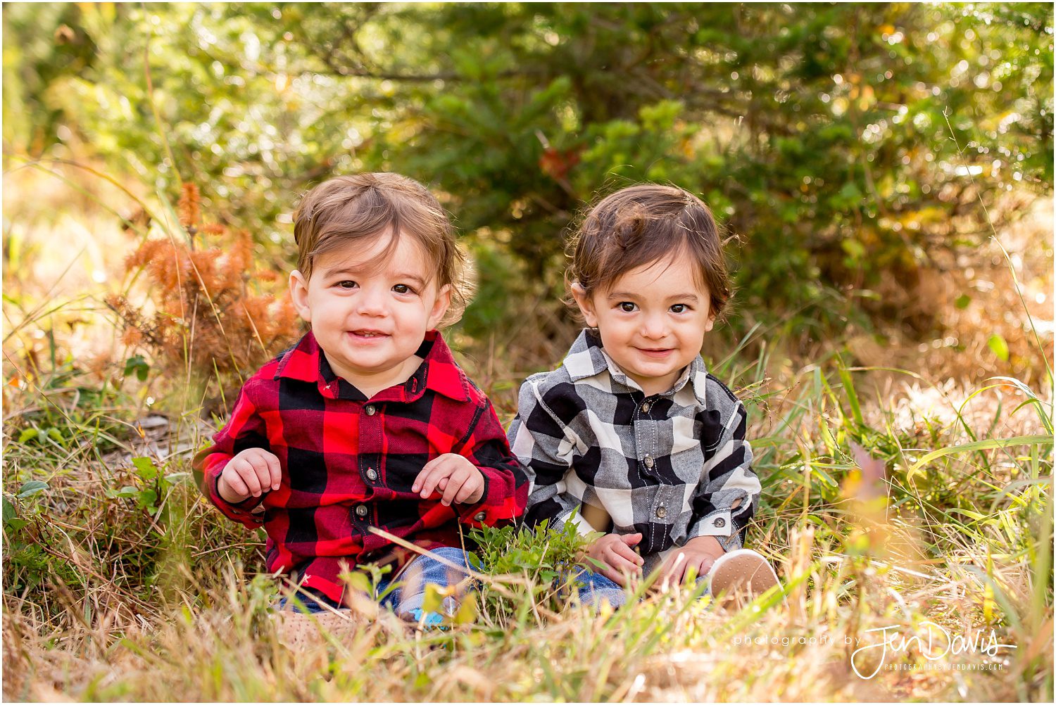
[[[675,384],[714,322],[708,289],[681,255],[633,269],[590,297],[574,284],[572,296],[605,352],[646,395]]]

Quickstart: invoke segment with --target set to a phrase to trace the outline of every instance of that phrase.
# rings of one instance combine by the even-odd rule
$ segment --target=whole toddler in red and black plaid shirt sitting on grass
[[[243,385],[194,458],[200,485],[229,518],[263,526],[267,570],[295,580],[308,611],[346,605],[341,574],[377,563],[398,580],[384,604],[438,622],[422,613],[426,585],[465,582],[463,529],[514,520],[528,489],[436,330],[465,308],[464,255],[436,198],[391,173],[317,186],[294,233],[289,290],[312,329]]]

